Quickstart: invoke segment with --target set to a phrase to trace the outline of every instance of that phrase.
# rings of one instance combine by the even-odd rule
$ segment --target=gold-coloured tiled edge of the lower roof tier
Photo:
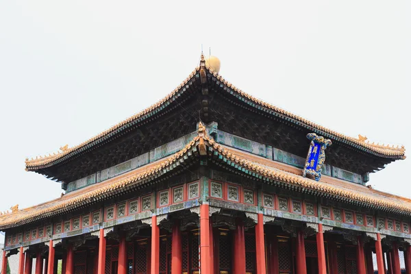
[[[62,203],[58,203],[54,206],[51,206],[50,208],[44,208],[40,209],[37,212],[34,212],[32,214],[27,214],[26,216],[21,216],[21,218],[12,218],[8,221],[1,222],[1,219],[5,219],[7,217],[12,217],[12,216],[17,216],[18,213],[23,213],[27,212],[27,210],[34,210],[38,206],[32,206],[30,208],[25,208],[23,210],[18,210],[18,212],[11,213],[11,214],[5,214],[0,216],[0,229],[3,228],[10,228],[17,226],[18,223],[25,222],[29,219],[34,219],[37,216],[40,216],[42,214],[48,214],[51,212],[55,212],[58,210],[62,210],[63,208],[71,208],[73,207],[76,203],[83,203],[86,202],[88,199],[95,198],[99,195],[103,194],[108,194],[108,192],[112,192],[116,189],[123,188],[125,186],[129,186],[131,184],[137,184],[141,179],[144,179],[146,177],[155,175],[156,173],[162,171],[164,167],[169,166],[173,162],[179,160],[179,158],[183,157],[186,152],[191,149],[194,146],[199,146],[199,151],[201,154],[201,146],[205,145],[205,142],[208,143],[210,147],[213,147],[216,151],[219,151],[221,155],[223,155],[225,158],[236,162],[237,164],[240,164],[241,166],[245,167],[245,169],[248,169],[250,171],[254,171],[256,173],[259,173],[260,175],[269,178],[269,179],[275,179],[280,182],[284,183],[289,183],[289,184],[296,184],[297,186],[301,186],[304,188],[309,188],[312,190],[320,191],[320,192],[326,192],[331,195],[336,195],[338,197],[344,197],[344,198],[349,198],[353,199],[359,202],[364,202],[364,203],[369,203],[374,206],[381,206],[383,208],[390,208],[393,210],[401,210],[403,212],[408,212],[411,214],[411,199],[407,199],[405,197],[399,197],[396,195],[391,195],[389,193],[381,192],[379,190],[373,190],[371,189],[371,192],[375,192],[376,194],[383,195],[386,198],[395,198],[395,199],[401,199],[403,201],[406,201],[407,203],[410,203],[410,206],[403,206],[398,203],[392,202],[392,201],[386,201],[383,199],[377,199],[373,197],[367,197],[366,195],[362,195],[360,193],[356,193],[353,191],[349,190],[344,190],[342,188],[337,188],[334,186],[327,185],[326,183],[320,181],[316,182],[313,179],[308,179],[306,177],[302,177],[301,175],[297,175],[294,173],[290,173],[288,171],[282,171],[282,170],[275,170],[276,168],[273,167],[273,169],[268,169],[264,164],[252,162],[250,160],[247,160],[245,158],[242,158],[240,155],[237,155],[235,152],[233,153],[231,149],[227,149],[227,147],[223,147],[220,145],[218,142],[216,142],[213,138],[208,136],[206,133],[205,127],[200,123],[199,124],[199,129],[198,129],[198,135],[195,136],[187,145],[184,147],[184,149],[178,151],[177,153],[171,155],[169,158],[166,158],[164,160],[159,160],[158,162],[153,163],[154,166],[150,167],[148,166],[142,166],[142,168],[137,169],[135,171],[130,171],[129,173],[125,173],[125,175],[120,176],[120,177],[114,177],[112,179],[109,179],[107,183],[102,183],[103,186],[99,186],[99,184],[94,184],[92,185],[89,191],[84,192],[78,196],[74,197],[66,197],[66,196],[72,196],[75,195],[75,192],[71,192],[70,195],[64,195],[58,199],[53,199],[51,201],[41,203],[38,206],[45,206],[47,203],[52,203],[55,201],[58,201],[59,199],[62,200]],[[334,178],[336,179],[336,178]],[[336,179],[338,182],[342,182],[345,184],[352,184],[349,182],[343,182],[342,180]],[[112,182],[111,184],[109,184]],[[351,185],[350,185],[351,186]],[[364,187],[366,188],[366,187]],[[80,190],[81,192],[81,190]],[[68,199],[67,199],[68,198]],[[66,200],[66,201],[64,201]],[[24,223],[23,223],[24,224]],[[23,225],[21,224],[21,225]]]

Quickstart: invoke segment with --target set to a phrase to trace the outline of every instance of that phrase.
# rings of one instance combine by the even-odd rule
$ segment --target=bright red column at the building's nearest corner
[[[200,206],[200,271],[210,274],[210,208],[207,204]]]

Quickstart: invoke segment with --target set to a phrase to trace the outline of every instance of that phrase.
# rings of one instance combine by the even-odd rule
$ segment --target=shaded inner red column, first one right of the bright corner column
[[[234,231],[234,271],[236,274],[245,274],[245,236],[244,223],[241,219],[236,220],[236,230]],[[202,260],[201,260],[202,262]]]

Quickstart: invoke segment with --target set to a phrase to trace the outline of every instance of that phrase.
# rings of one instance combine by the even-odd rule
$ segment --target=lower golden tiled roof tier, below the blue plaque
[[[75,190],[38,206],[0,215],[0,229],[8,229],[51,218],[90,203],[109,199],[125,190],[141,188],[147,182],[161,179],[166,173],[173,172],[173,169],[184,169],[188,161],[199,160],[201,155],[208,155],[214,160],[221,161],[221,164],[226,164],[229,169],[242,171],[244,175],[253,176],[267,184],[278,184],[286,188],[292,187],[296,191],[310,190],[313,195],[326,195],[330,199],[353,203],[358,206],[411,216],[411,199],[380,192],[326,175],[323,175],[319,182],[302,177],[302,170],[294,166],[219,144],[206,134],[205,127],[200,123],[198,135],[184,149],[171,157],[147,164],[105,182]]]

